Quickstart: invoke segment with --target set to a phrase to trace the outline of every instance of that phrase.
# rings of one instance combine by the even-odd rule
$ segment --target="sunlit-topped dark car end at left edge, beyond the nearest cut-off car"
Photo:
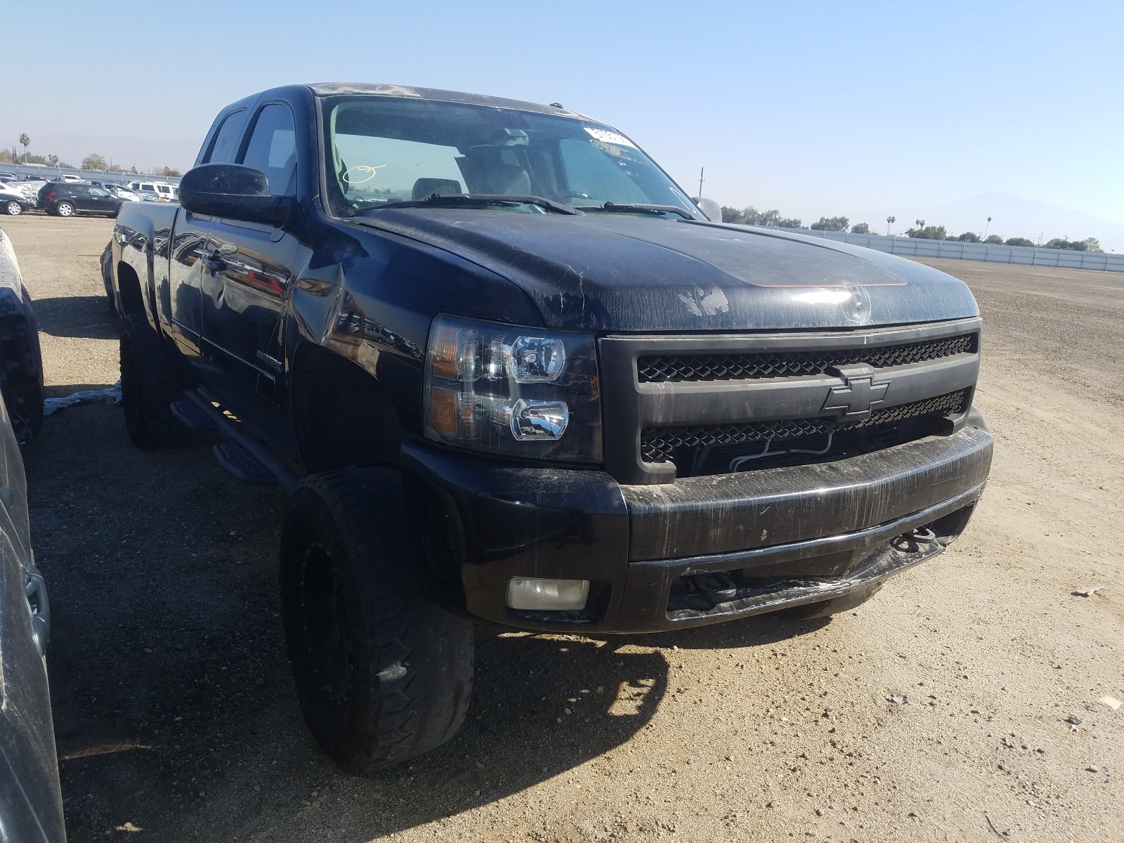
[[[43,424],[43,355],[31,297],[24,287],[16,251],[0,228],[0,393],[20,445]],[[2,687],[2,686],[0,686]],[[0,836],[2,839],[2,836]]]

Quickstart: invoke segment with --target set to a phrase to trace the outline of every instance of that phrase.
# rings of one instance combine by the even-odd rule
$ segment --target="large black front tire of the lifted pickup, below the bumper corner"
[[[422,595],[406,523],[397,472],[348,469],[306,478],[281,531],[300,707],[325,751],[357,774],[445,743],[472,691],[472,624]]]

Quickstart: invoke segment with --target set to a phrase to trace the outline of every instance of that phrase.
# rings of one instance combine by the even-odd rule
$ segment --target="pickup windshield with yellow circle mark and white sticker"
[[[329,202],[341,216],[434,193],[481,193],[575,208],[673,206],[701,218],[667,173],[608,126],[400,97],[337,97],[324,109]],[[532,203],[511,210],[546,212]]]

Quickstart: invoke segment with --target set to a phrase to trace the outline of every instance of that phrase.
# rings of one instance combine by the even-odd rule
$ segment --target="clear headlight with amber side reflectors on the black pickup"
[[[601,461],[595,339],[438,316],[425,365],[430,439],[492,453]]]

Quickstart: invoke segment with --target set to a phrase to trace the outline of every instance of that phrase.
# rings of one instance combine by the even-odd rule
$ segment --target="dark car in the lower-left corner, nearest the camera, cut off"
[[[62,843],[66,832],[44,661],[51,613],[31,553],[24,462],[2,400],[0,487],[0,839]]]

